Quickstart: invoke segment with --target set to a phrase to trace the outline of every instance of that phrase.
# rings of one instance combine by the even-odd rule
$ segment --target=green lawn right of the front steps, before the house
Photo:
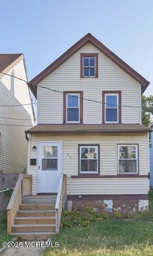
[[[153,190],[149,198],[153,213]],[[153,256],[153,223],[110,219],[89,227],[63,228],[52,242],[59,247],[43,256]]]

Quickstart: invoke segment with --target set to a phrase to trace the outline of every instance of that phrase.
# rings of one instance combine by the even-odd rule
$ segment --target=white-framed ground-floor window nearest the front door
[[[79,173],[99,173],[99,145],[78,145]]]

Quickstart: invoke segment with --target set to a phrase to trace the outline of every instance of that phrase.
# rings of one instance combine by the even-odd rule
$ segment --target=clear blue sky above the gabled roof
[[[0,53],[24,53],[29,80],[91,33],[153,94],[153,0],[0,0],[0,24]]]

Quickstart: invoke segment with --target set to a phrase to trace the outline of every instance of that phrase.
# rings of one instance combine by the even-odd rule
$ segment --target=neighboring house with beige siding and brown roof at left
[[[26,82],[13,77],[27,81],[23,54],[0,54],[0,72],[11,75],[0,73],[0,172],[27,172],[24,130],[33,126],[35,117]]]

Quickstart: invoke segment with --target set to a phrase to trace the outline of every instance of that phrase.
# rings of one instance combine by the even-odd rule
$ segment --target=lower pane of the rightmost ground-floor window
[[[119,160],[119,173],[137,173],[136,160]]]

